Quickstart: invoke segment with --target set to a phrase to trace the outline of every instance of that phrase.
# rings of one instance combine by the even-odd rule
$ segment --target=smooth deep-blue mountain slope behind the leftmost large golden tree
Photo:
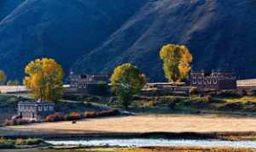
[[[68,70],[123,25],[143,0],[26,0],[0,23],[0,69],[21,78],[26,63],[55,58]]]

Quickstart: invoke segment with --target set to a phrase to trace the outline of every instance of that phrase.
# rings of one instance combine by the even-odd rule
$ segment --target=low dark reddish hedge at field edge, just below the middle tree
[[[119,110],[106,110],[100,112],[85,112],[85,118],[96,118],[96,117],[103,117],[103,116],[114,116],[119,115]]]

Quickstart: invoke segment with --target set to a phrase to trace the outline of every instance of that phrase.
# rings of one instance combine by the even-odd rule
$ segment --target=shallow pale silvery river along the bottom
[[[49,144],[84,145],[84,146],[121,146],[121,147],[147,147],[147,146],[209,146],[209,147],[244,147],[256,148],[256,141],[219,141],[219,140],[176,140],[176,139],[96,139],[96,140],[69,140],[46,141]]]

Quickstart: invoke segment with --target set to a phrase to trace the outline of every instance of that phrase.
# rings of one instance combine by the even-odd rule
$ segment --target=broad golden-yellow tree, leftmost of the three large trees
[[[55,59],[36,59],[26,65],[24,85],[32,90],[34,99],[57,101],[63,90],[64,72]]]

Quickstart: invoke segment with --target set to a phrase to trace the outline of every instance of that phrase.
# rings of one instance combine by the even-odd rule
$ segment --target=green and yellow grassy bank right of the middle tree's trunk
[[[226,113],[255,115],[254,96],[160,96],[139,97],[131,105],[131,111],[139,113]]]

